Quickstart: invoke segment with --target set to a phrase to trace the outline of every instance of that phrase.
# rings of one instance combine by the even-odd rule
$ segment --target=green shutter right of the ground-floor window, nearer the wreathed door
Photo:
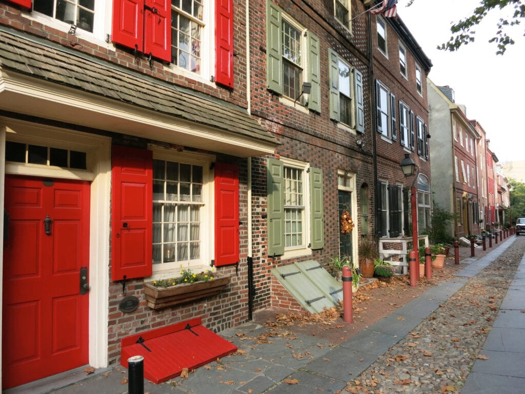
[[[324,247],[323,170],[310,168],[310,247]]]

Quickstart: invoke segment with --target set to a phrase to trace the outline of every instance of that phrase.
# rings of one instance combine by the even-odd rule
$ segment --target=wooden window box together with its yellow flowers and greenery
[[[144,294],[150,308],[161,309],[214,296],[226,288],[229,282],[229,276],[218,275],[210,270],[193,273],[188,268],[183,269],[179,277],[144,283]]]

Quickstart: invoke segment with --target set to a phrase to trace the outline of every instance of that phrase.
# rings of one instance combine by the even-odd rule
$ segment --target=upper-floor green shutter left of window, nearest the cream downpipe
[[[281,9],[271,0],[266,2],[266,84],[282,95]]]

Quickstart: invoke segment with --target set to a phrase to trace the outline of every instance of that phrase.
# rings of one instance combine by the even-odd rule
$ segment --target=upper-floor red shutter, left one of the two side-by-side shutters
[[[111,40],[142,51],[144,37],[144,0],[113,0]]]

